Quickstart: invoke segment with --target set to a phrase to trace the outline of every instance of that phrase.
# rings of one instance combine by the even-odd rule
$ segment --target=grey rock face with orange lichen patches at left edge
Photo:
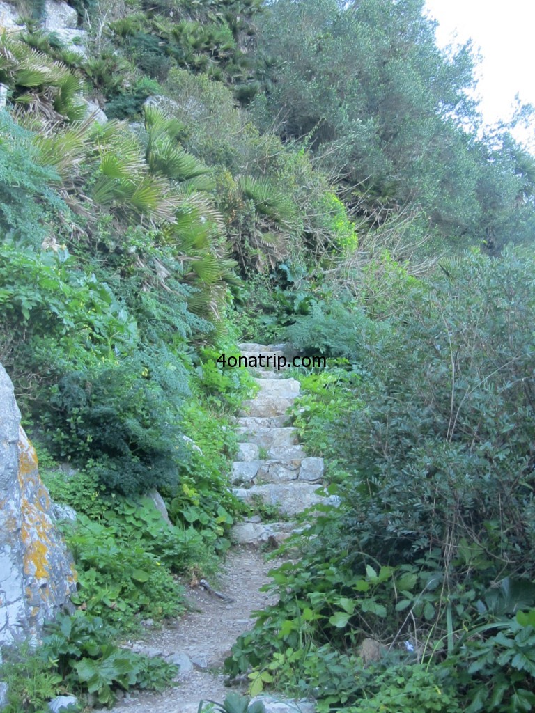
[[[76,588],[34,447],[0,365],[0,644],[36,639]]]

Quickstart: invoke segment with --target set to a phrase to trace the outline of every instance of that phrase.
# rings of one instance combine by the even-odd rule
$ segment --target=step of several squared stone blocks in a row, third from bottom
[[[289,463],[277,458],[234,461],[230,481],[243,486],[290,481],[315,483],[322,479],[324,467],[323,458],[295,458]]]

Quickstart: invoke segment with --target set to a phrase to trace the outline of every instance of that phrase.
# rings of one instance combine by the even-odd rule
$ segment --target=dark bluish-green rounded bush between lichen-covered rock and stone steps
[[[178,414],[161,386],[147,377],[137,360],[63,376],[41,418],[51,451],[78,464],[93,456],[93,471],[111,491],[174,486],[180,458],[187,455]]]

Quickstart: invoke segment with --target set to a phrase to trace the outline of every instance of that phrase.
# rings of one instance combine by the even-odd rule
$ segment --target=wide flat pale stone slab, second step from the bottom
[[[233,488],[233,493],[248,505],[254,505],[255,498],[260,498],[265,505],[275,506],[284,515],[292,516],[329,502],[326,496],[316,493],[318,489],[312,483],[266,483],[252,488]]]

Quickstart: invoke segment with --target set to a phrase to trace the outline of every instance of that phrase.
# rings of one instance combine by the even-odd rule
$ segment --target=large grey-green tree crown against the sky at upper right
[[[260,124],[278,122],[285,138],[305,138],[322,165],[357,187],[355,205],[418,205],[447,237],[486,240],[491,232],[502,244],[512,237],[502,214],[518,207],[516,162],[476,138],[472,47],[439,49],[423,7],[270,4],[257,52],[273,67],[272,81],[251,109]]]

